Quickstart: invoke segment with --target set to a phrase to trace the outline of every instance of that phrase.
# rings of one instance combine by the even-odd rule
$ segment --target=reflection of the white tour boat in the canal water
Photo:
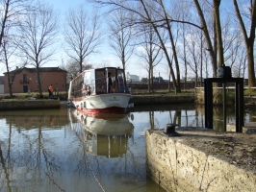
[[[107,157],[126,154],[128,139],[133,139],[134,134],[134,126],[128,116],[129,114],[114,113],[86,115],[72,108],[69,113],[72,130],[84,140],[87,152]],[[77,122],[72,121],[72,117]]]

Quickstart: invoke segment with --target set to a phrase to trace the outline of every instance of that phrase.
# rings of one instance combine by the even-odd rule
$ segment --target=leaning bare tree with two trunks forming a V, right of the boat
[[[178,64],[178,59],[177,56],[174,55],[174,60],[175,60],[175,70],[176,70],[176,74],[174,72],[174,68],[172,66],[172,62],[170,60],[170,56],[169,56],[169,48],[166,47],[166,42],[162,39],[160,30],[162,30],[163,28],[166,29],[167,33],[168,33],[168,38],[171,42],[171,48],[173,49],[173,54],[176,53],[175,51],[175,42],[173,39],[173,35],[171,32],[171,26],[170,26],[170,20],[168,17],[168,13],[166,12],[166,8],[164,6],[164,3],[162,0],[158,0],[158,1],[154,1],[153,3],[156,3],[157,6],[152,6],[152,2],[148,2],[145,0],[140,0],[137,1],[134,5],[135,7],[132,7],[132,3],[130,2],[119,2],[119,1],[102,1],[102,0],[91,0],[94,3],[99,3],[99,4],[103,4],[103,5],[108,5],[108,6],[114,6],[114,10],[115,9],[121,9],[121,10],[125,10],[126,12],[133,12],[137,15],[137,20],[133,21],[131,23],[131,25],[140,25],[141,23],[147,23],[149,25],[151,25],[151,27],[154,29],[156,35],[159,38],[159,42],[160,42],[160,46],[162,47],[165,57],[166,57],[166,61],[168,63],[168,66],[170,68],[170,74],[172,77],[172,81],[173,84],[176,88],[177,91],[180,91],[180,71],[179,71],[179,64]],[[138,8],[138,6],[140,8]],[[157,8],[155,10],[155,8]],[[153,13],[152,13],[153,12]],[[163,14],[160,14],[162,13]]]

